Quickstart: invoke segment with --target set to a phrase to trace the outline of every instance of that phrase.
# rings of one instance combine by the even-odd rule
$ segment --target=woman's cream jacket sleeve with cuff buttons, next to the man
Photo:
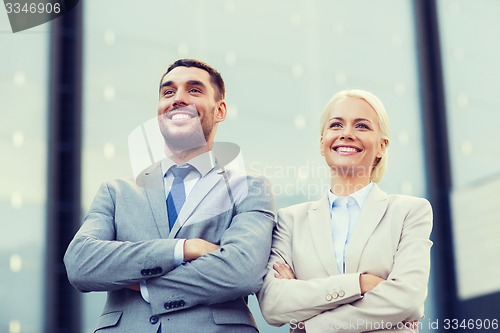
[[[310,280],[288,280],[274,277],[273,264],[285,262],[293,269],[293,223],[301,219],[294,214],[278,212],[278,224],[273,234],[273,246],[268,273],[258,294],[259,304],[266,321],[275,326],[309,319],[323,311],[353,302],[361,297],[359,273],[332,275]],[[294,270],[295,271],[295,270]],[[332,296],[332,291],[342,292]]]

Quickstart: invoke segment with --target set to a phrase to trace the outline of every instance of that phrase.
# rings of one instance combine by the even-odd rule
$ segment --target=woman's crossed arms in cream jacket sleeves
[[[421,318],[431,246],[432,212],[427,201],[419,200],[406,215],[394,265],[384,279],[369,272],[295,279],[293,225],[287,222],[278,217],[270,270],[259,292],[268,323],[303,322],[308,332],[364,332],[382,322],[386,327],[404,323],[411,328]],[[328,290],[338,288],[345,297],[325,300]]]

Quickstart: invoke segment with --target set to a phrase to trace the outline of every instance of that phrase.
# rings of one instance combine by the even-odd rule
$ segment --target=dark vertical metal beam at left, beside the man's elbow
[[[63,256],[81,219],[82,5],[51,24],[44,332],[78,333],[81,299]]]

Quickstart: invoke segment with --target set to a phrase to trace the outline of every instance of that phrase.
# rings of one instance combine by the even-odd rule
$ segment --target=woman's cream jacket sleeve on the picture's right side
[[[363,299],[307,320],[306,331],[365,332],[421,319],[430,271],[431,229],[431,206],[427,200],[418,199],[405,217],[387,280]]]

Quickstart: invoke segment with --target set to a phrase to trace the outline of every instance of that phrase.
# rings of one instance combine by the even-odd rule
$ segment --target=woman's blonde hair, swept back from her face
[[[382,101],[375,96],[374,94],[359,89],[352,90],[342,90],[336,93],[329,101],[326,103],[326,106],[323,110],[323,114],[321,116],[320,123],[320,135],[323,137],[323,131],[325,130],[326,123],[328,119],[330,119],[330,113],[335,107],[335,105],[344,97],[353,97],[364,100],[368,103],[378,117],[380,136],[382,140],[386,140],[386,145],[389,145],[389,118],[387,117],[387,112],[385,111],[385,107],[382,104]],[[384,152],[384,155],[380,160],[375,164],[372,169],[370,180],[374,183],[378,183],[382,177],[384,176],[385,170],[387,169],[387,158],[388,158],[387,150]]]

